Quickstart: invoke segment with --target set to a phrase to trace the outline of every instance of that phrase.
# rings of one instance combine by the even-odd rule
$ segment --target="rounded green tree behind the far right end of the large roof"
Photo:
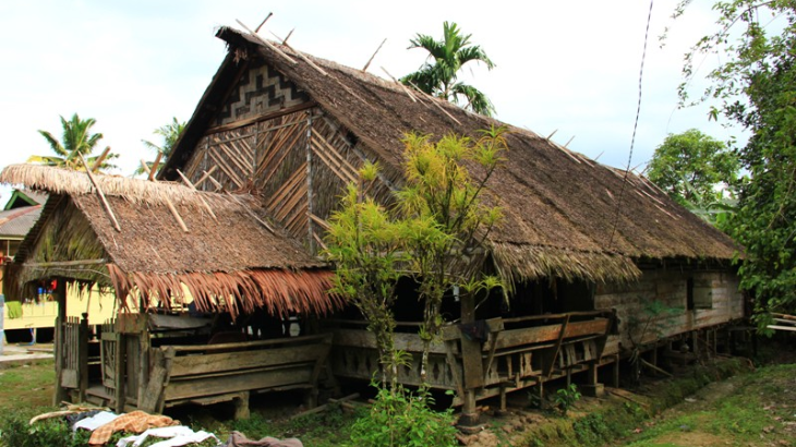
[[[738,178],[739,164],[726,145],[691,129],[670,134],[655,148],[647,177],[680,203],[702,204],[714,197],[716,186]]]

